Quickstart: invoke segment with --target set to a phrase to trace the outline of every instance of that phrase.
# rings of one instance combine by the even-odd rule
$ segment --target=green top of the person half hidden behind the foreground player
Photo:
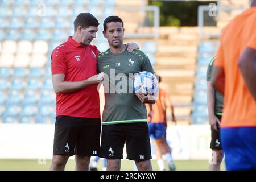
[[[207,81],[210,81],[210,76],[212,74],[212,68],[213,68],[213,62],[216,59],[216,56],[213,57],[213,59],[210,61],[208,68],[207,68]],[[215,106],[214,106],[214,112],[217,115],[222,115],[222,109],[223,109],[223,95],[215,90]]]

